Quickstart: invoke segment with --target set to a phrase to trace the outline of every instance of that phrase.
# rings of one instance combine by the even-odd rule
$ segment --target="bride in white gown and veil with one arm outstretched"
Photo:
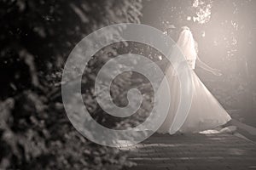
[[[193,89],[189,114],[178,131],[180,133],[198,133],[229,122],[231,119],[230,115],[218,103],[218,100],[212,96],[199,77],[196,76],[195,71],[193,71],[195,69],[196,62],[196,65],[200,66],[202,69],[212,72],[215,76],[221,76],[220,71],[212,69],[199,59],[197,55],[197,44],[192,32],[189,30],[189,27],[182,27],[182,31],[177,40],[177,46],[183,52],[183,55],[192,70]],[[177,123],[173,122],[175,120],[175,114],[177,113],[180,89],[177,74],[173,74],[173,71],[172,66],[169,66],[166,71],[166,79],[170,84],[170,92],[172,92],[172,94],[170,94],[172,102],[165,121],[157,131],[158,133],[172,134],[177,131],[177,127],[175,127]]]

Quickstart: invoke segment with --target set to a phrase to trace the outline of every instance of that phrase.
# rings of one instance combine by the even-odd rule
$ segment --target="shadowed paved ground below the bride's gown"
[[[256,143],[230,133],[159,134],[131,147],[129,159],[150,169],[256,169]]]

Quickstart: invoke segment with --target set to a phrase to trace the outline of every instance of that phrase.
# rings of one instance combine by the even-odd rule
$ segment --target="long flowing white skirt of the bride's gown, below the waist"
[[[209,92],[206,86],[201,82],[195,71],[191,71],[192,77],[192,103],[189,114],[179,128],[181,133],[198,133],[207,129],[212,129],[229,122],[231,117],[218,103],[218,100]],[[170,86],[171,104],[165,121],[158,129],[158,133],[175,133],[173,129],[176,123],[174,117],[177,114],[177,108],[180,101],[180,82],[177,74],[173,72],[172,66],[166,71],[166,78]],[[161,89],[159,89],[161,90]]]

